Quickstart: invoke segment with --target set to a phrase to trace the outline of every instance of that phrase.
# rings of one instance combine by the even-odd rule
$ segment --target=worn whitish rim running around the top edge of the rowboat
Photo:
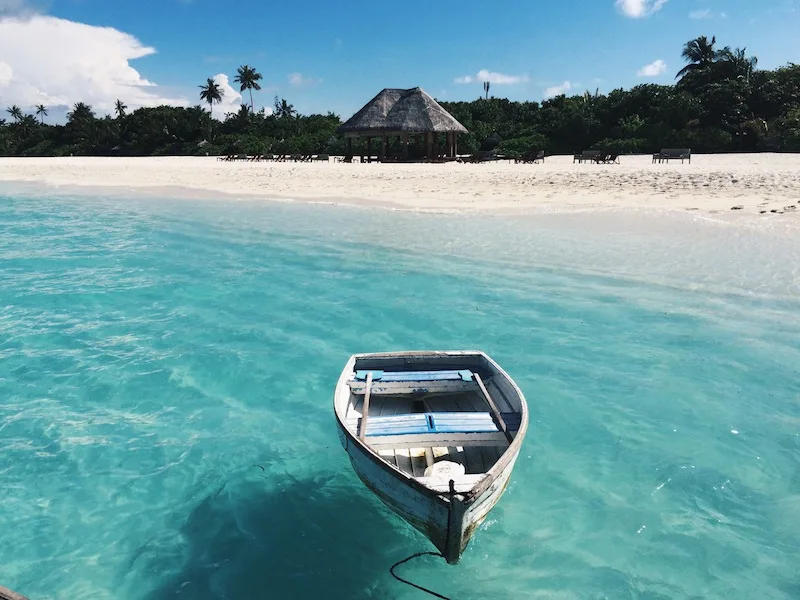
[[[392,465],[391,463],[385,461],[381,456],[375,452],[366,442],[359,439],[357,435],[355,435],[350,429],[348,428],[347,424],[344,422],[343,416],[339,412],[339,406],[337,405],[337,398],[339,396],[340,390],[347,385],[347,381],[349,380],[349,375],[352,374],[352,368],[355,366],[355,363],[359,359],[365,358],[406,358],[418,356],[423,358],[425,356],[476,356],[481,357],[486,360],[492,368],[496,369],[497,373],[503,375],[511,384],[512,389],[518,395],[520,399],[520,425],[519,429],[514,436],[513,442],[508,445],[508,447],[503,451],[503,454],[500,458],[497,459],[497,462],[492,465],[492,467],[483,474],[483,477],[475,484],[475,486],[470,489],[468,492],[459,493],[459,496],[464,498],[464,502],[466,504],[472,504],[476,499],[478,499],[489,487],[491,487],[492,483],[498,478],[498,476],[508,467],[508,464],[518,455],[520,448],[522,447],[522,443],[525,439],[525,434],[528,430],[528,403],[525,399],[525,395],[522,393],[522,390],[519,388],[517,383],[509,376],[509,374],[495,362],[488,354],[481,350],[457,350],[457,351],[440,351],[440,350],[431,350],[431,351],[402,351],[402,352],[375,352],[375,353],[363,353],[363,354],[354,354],[352,355],[342,370],[342,374],[339,377],[339,381],[336,383],[336,388],[334,390],[334,398],[333,398],[333,405],[334,405],[334,414],[336,415],[336,421],[344,432],[344,435],[347,438],[348,444],[354,443],[360,447],[363,453],[369,458],[371,462],[376,464],[382,470],[391,473],[396,479],[399,479],[406,485],[409,485],[419,493],[423,494],[427,498],[434,499],[440,502],[443,505],[449,503],[449,499],[446,498],[447,494],[442,494],[441,492],[435,492],[434,490],[428,488],[427,486],[418,482],[414,477],[411,477],[404,471],[401,471],[398,467]],[[348,392],[349,393],[349,392]]]

